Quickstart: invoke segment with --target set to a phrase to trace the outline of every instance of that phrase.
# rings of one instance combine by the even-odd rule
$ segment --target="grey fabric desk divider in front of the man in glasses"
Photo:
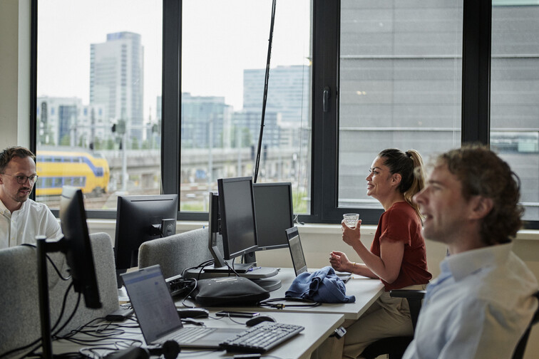
[[[88,309],[81,296],[75,316],[63,331],[58,333],[59,335],[69,333],[95,318],[104,317],[118,309],[118,289],[116,288],[111,237],[106,233],[96,233],[91,234],[90,239],[103,307]],[[48,256],[56,264],[62,276],[67,277],[69,274],[66,257],[61,253],[50,253]],[[71,284],[71,279],[68,281],[59,279],[49,261],[47,261],[47,274],[51,325],[53,326],[61,313],[63,298]],[[78,293],[71,288],[62,320],[57,328],[60,328],[73,312],[77,298]],[[41,338],[35,248],[15,246],[0,250],[0,323],[0,354]],[[21,351],[14,355],[21,353],[25,352]]]

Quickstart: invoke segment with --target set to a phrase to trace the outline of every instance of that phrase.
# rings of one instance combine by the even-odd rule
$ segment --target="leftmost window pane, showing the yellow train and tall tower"
[[[161,0],[39,1],[38,201],[160,193],[162,19]]]

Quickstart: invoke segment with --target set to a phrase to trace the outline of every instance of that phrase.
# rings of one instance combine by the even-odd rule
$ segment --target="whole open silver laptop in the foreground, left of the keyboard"
[[[219,343],[245,331],[184,327],[158,264],[122,274],[122,279],[147,345],[175,340],[180,348],[217,349]]]

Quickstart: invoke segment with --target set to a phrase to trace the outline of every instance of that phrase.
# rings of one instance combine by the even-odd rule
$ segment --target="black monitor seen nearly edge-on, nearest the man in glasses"
[[[60,226],[63,241],[66,242],[64,253],[73,288],[84,296],[86,307],[101,308],[83,194],[80,188],[63,187],[60,198]]]

